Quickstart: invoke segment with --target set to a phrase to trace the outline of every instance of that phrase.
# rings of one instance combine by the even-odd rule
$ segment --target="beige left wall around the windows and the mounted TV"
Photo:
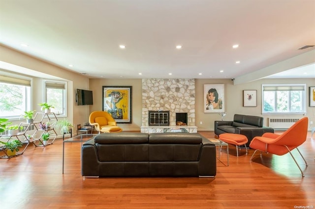
[[[61,67],[35,59],[23,53],[0,45],[0,70],[19,72],[33,78],[33,110],[40,111],[38,103],[43,102],[42,79],[57,79],[67,82],[67,119],[75,124],[88,122],[89,106],[77,106],[76,89],[89,89],[89,78]]]

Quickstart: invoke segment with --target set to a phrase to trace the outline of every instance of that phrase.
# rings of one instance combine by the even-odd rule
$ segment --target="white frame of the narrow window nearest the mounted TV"
[[[55,113],[57,118],[66,118],[67,117],[67,82],[65,81],[57,81],[57,80],[43,80],[43,98],[44,98],[44,102],[47,102],[47,86],[46,84],[56,84],[58,85],[63,85],[64,89],[63,89],[63,108],[64,108],[64,112],[62,114],[60,113]],[[54,89],[54,88],[50,88],[50,89]],[[60,89],[60,88],[56,88],[56,89]]]

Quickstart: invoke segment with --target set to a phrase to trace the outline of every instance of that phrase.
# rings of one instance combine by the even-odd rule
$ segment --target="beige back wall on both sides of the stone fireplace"
[[[198,131],[214,130],[214,121],[221,120],[218,113],[204,113],[204,84],[224,84],[225,120],[232,120],[234,114],[261,116],[264,125],[268,125],[270,115],[261,114],[262,84],[306,84],[307,86],[307,117],[315,122],[315,107],[308,107],[308,87],[315,86],[314,79],[262,79],[254,82],[233,85],[231,79],[196,79],[195,80],[195,125]],[[132,124],[119,124],[124,130],[140,130],[142,124],[142,87],[141,79],[91,79],[90,90],[95,92],[93,110],[102,109],[102,86],[132,86]],[[257,107],[243,107],[243,90],[257,90]],[[302,118],[304,115],[293,115]],[[274,115],[272,118],[292,118],[292,115]],[[200,124],[200,121],[202,124]]]

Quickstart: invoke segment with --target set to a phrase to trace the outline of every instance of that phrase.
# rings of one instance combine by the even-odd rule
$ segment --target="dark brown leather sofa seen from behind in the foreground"
[[[216,147],[198,133],[103,133],[82,146],[84,177],[214,177]]]

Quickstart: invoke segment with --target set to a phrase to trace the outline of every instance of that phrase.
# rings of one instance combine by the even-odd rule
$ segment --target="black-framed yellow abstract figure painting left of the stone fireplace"
[[[103,111],[117,123],[131,123],[131,95],[130,86],[103,86]]]

